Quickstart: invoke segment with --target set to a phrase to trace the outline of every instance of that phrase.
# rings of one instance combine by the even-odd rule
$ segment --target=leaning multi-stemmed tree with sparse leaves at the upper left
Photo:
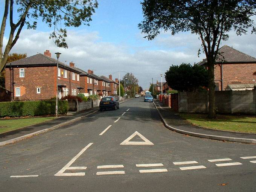
[[[0,29],[0,72],[5,69],[8,54],[17,42],[24,25],[27,26],[27,29],[36,29],[37,20],[41,17],[48,27],[53,28],[49,38],[52,38],[58,47],[67,48],[67,30],[62,26],[79,27],[82,23],[89,26],[91,15],[97,7],[97,0],[16,0],[15,3],[14,0],[5,0],[5,11]],[[15,11],[19,15],[17,22],[14,21]],[[11,29],[3,51],[3,37],[7,32],[6,21],[8,17]]]

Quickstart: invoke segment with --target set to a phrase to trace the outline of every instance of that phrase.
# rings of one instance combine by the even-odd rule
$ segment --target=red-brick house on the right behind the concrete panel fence
[[[214,69],[215,90],[253,89],[256,81],[256,58],[227,45],[219,49]],[[207,59],[198,65],[206,66]],[[253,81],[254,80],[254,81]],[[234,88],[235,87],[235,88]]]

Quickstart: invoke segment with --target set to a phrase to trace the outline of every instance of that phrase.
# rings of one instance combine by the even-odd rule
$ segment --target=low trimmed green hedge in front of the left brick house
[[[55,100],[0,102],[0,117],[51,115],[55,107]],[[58,101],[59,114],[66,114],[68,109],[67,101]]]

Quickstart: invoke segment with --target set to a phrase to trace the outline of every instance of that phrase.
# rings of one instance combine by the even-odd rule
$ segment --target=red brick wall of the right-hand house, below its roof
[[[256,80],[254,72],[256,72],[256,63],[223,64],[223,90],[228,84],[253,83],[252,80]],[[221,80],[221,66],[215,65],[214,75],[215,80]],[[221,90],[221,82],[215,82],[219,82],[219,90]]]

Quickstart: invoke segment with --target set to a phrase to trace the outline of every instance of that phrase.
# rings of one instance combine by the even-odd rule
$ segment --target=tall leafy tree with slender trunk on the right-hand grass
[[[144,0],[144,20],[139,24],[145,38],[154,39],[162,30],[172,35],[191,31],[201,41],[207,59],[209,77],[209,114],[215,116],[214,64],[218,58],[221,40],[227,40],[230,30],[236,34],[247,33],[252,27],[256,32],[252,15],[255,15],[254,0]],[[200,54],[200,49],[198,55]]]

